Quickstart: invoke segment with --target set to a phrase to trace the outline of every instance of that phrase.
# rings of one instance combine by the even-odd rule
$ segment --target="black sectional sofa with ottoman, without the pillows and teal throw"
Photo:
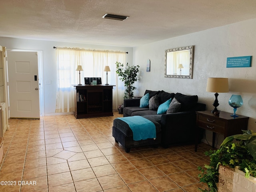
[[[198,96],[184,95],[181,93],[168,93],[165,91],[146,90],[144,95],[149,94],[149,98],[157,95],[159,105],[170,98],[175,98],[181,107],[172,113],[157,114],[158,108],[150,110],[149,107],[141,108],[140,99],[124,99],[124,117],[143,116],[151,120],[157,128],[157,139],[152,140],[132,140],[132,131],[127,128],[120,120],[114,120],[113,136],[116,142],[120,142],[127,151],[131,147],[143,146],[148,144],[161,144],[167,148],[172,144],[194,143],[196,134],[196,111],[206,109],[206,105],[198,103]],[[122,124],[122,125],[121,125]]]

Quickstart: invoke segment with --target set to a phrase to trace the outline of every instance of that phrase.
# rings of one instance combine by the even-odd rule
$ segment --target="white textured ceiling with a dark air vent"
[[[0,36],[134,47],[253,18],[256,0],[2,0]]]

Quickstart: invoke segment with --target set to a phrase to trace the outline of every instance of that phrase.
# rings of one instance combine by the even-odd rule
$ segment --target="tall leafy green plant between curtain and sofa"
[[[136,87],[132,86],[137,81],[137,73],[139,72],[140,66],[129,66],[128,63],[126,67],[120,62],[116,62],[116,73],[120,76],[120,80],[124,82],[126,90],[124,93],[124,99],[133,97],[133,90]]]

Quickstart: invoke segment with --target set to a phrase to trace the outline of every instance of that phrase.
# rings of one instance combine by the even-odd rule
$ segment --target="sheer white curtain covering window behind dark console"
[[[106,72],[104,67],[109,66],[108,83],[115,85],[113,88],[113,108],[117,109],[122,104],[124,97],[124,83],[116,74],[116,62],[124,63],[124,52],[83,50],[76,48],[57,48],[57,95],[55,112],[74,111],[74,85],[79,83],[78,65],[82,65],[80,71],[81,83],[84,77],[102,77],[102,84],[106,84]]]

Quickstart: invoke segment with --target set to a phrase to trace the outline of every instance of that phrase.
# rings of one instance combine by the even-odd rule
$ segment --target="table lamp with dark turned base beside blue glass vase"
[[[207,80],[207,86],[206,86],[207,92],[215,92],[215,101],[212,104],[215,108],[212,110],[212,113],[214,115],[219,115],[220,111],[217,109],[217,106],[219,106],[218,102],[218,93],[227,93],[228,90],[228,78],[208,78]]]

